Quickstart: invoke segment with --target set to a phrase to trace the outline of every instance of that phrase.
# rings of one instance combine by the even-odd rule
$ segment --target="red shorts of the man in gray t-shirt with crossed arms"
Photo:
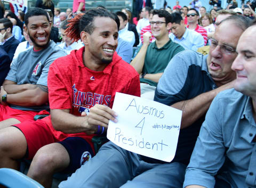
[[[38,115],[38,113],[37,111],[17,110],[0,104],[0,121],[10,118],[18,119],[20,122],[29,119],[34,120],[34,116]]]

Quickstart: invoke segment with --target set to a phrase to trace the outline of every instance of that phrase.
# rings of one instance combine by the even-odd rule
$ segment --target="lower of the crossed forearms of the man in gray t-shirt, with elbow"
[[[21,105],[23,107],[33,107],[43,105],[48,101],[48,89],[43,85],[35,85],[34,89],[8,94],[7,103]]]

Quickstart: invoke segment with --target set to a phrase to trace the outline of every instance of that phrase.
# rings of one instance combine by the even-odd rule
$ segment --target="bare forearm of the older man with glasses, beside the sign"
[[[214,97],[225,89],[234,86],[234,81],[213,89],[210,92],[202,93],[193,99],[177,102],[171,107],[182,110],[181,128],[186,128],[202,117],[209,109]]]

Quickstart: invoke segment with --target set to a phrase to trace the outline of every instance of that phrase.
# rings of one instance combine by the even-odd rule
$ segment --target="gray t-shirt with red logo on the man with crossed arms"
[[[35,52],[33,48],[21,52],[17,59],[12,62],[11,69],[5,78],[21,84],[39,84],[47,86],[47,76],[50,64],[57,58],[67,55],[53,41],[41,51]],[[11,108],[19,110],[49,110],[49,105],[44,104],[35,107],[22,107],[19,105],[9,105]]]

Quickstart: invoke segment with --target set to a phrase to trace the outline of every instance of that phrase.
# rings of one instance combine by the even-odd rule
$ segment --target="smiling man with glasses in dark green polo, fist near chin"
[[[172,15],[165,10],[154,10],[150,22],[152,34],[156,38],[150,43],[151,34],[143,34],[143,45],[132,60],[131,65],[140,74],[141,97],[153,100],[159,78],[173,56],[184,50],[172,42],[169,30],[172,27]]]

